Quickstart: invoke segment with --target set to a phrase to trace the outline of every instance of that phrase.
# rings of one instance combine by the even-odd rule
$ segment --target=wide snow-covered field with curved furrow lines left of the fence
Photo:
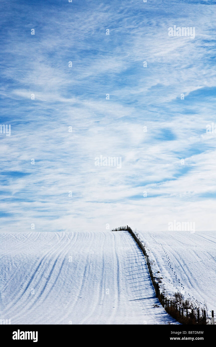
[[[0,319],[176,323],[155,298],[144,256],[127,231],[1,233]]]

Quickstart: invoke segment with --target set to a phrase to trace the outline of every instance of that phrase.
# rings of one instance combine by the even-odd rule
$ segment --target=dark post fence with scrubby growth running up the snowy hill
[[[119,228],[115,228],[111,231],[120,231],[126,230],[129,231],[131,236],[134,238],[142,253],[144,254],[150,278],[152,280],[153,286],[155,288],[156,297],[159,302],[162,304],[167,313],[169,313],[173,318],[178,320],[182,324],[207,324],[208,316],[206,316],[206,311],[204,309],[199,309],[198,307],[182,307],[181,305],[176,304],[175,300],[171,300],[171,298],[167,298],[163,293],[160,292],[159,282],[157,282],[156,277],[152,271],[151,262],[149,256],[146,252],[144,244],[138,238],[138,236],[133,232],[133,230],[127,226],[122,226]],[[209,323],[208,323],[209,324]],[[214,311],[211,311],[211,323],[214,324]]]

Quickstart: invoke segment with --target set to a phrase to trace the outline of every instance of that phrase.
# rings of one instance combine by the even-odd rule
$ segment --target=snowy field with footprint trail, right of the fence
[[[216,231],[139,231],[147,243],[152,268],[168,293],[207,302],[216,311]]]

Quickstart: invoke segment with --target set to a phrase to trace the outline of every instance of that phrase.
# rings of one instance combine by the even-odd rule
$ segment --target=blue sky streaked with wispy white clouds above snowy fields
[[[216,230],[215,17],[214,0],[1,1],[0,231]]]

